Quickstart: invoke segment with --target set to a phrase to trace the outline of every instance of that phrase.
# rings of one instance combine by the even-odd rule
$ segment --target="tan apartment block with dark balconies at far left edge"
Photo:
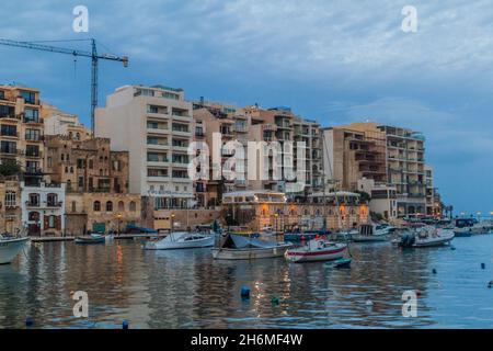
[[[39,90],[0,86],[0,161],[20,165],[26,184],[39,184],[43,178],[41,110]]]

